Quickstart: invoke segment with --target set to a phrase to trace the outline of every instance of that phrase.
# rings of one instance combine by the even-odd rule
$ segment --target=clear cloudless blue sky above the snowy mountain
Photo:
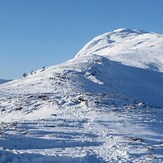
[[[0,1],[0,78],[71,59],[117,28],[163,33],[163,0]]]

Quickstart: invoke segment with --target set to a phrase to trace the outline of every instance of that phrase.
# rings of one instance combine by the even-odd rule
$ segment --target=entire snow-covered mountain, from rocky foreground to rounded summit
[[[118,29],[0,85],[0,162],[163,161],[162,36]]]

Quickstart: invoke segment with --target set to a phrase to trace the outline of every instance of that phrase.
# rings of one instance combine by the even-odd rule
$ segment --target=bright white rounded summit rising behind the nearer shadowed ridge
[[[124,65],[163,72],[163,34],[117,29],[95,37],[76,57],[92,54]]]

